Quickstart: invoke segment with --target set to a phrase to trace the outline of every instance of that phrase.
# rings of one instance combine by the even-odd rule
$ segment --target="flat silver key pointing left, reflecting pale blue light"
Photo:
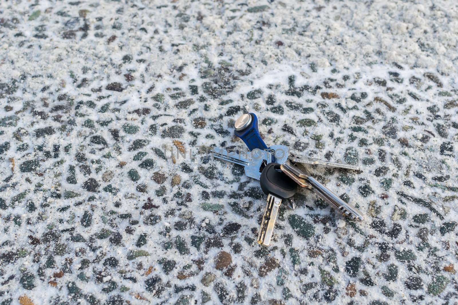
[[[245,175],[259,180],[262,166],[272,162],[272,154],[266,150],[254,149],[243,154],[222,148],[213,148],[213,157],[245,167]]]

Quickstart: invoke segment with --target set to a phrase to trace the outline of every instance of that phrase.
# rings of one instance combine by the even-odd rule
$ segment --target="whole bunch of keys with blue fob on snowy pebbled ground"
[[[243,114],[237,119],[234,134],[245,142],[250,153],[237,155],[232,152],[230,154],[227,150],[218,148],[214,148],[212,152],[215,158],[244,166],[245,174],[248,177],[260,180],[261,188],[267,194],[267,204],[262,217],[258,243],[265,246],[270,244],[273,227],[282,200],[288,199],[289,208],[294,209],[294,202],[291,197],[296,193],[297,185],[310,189],[318,197],[331,203],[338,211],[350,219],[363,220],[362,214],[357,209],[345,203],[330,189],[312,177],[305,164],[318,164],[353,170],[358,170],[358,166],[290,154],[288,146],[285,145],[267,147],[259,134],[258,121],[254,113]],[[291,186],[294,186],[294,192]]]

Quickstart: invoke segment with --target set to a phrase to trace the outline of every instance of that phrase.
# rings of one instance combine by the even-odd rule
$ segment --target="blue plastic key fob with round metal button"
[[[245,142],[250,151],[256,148],[260,150],[267,149],[266,143],[261,139],[257,125],[257,118],[254,113],[242,114],[235,121],[234,134]]]

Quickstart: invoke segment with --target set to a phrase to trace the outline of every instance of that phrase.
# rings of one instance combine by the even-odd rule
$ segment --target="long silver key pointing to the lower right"
[[[330,189],[318,182],[314,177],[311,176],[310,171],[308,171],[302,164],[287,161],[282,164],[280,168],[288,177],[293,179],[301,187],[310,189],[320,198],[324,199],[328,203],[333,204],[345,216],[352,220],[362,221],[364,219],[360,211],[346,203],[344,200],[340,199]]]

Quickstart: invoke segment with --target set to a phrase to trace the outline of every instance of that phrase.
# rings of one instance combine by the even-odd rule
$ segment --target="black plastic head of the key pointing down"
[[[266,195],[272,194],[281,199],[291,198],[297,191],[297,183],[286,176],[278,163],[267,164],[259,181]]]

